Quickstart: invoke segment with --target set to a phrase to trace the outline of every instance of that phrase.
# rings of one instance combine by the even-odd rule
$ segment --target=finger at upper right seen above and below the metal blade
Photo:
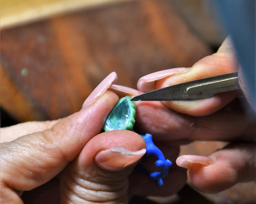
[[[192,66],[191,69],[176,68],[175,74],[171,69],[169,70],[170,74],[167,77],[165,74],[154,73],[156,76],[151,74],[153,77],[148,77],[151,78],[151,82],[145,81],[145,77],[142,77],[138,81],[138,88],[141,88],[140,84],[144,84],[143,87],[147,88],[147,83],[148,86],[151,87],[152,82],[155,84],[154,89],[164,88],[170,85],[196,79],[227,74],[233,71],[237,71],[238,67],[239,64],[236,60],[235,50],[232,47],[230,40],[226,39],[218,49],[217,53],[199,60]],[[163,103],[168,108],[171,108],[177,112],[186,113],[192,116],[202,116],[214,113],[215,111],[223,108],[235,97],[236,91],[231,91],[224,94],[215,94],[215,96],[209,99],[200,99],[196,101],[168,101]]]

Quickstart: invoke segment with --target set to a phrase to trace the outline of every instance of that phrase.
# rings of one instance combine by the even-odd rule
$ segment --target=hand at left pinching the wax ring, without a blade
[[[141,191],[141,180],[148,183],[144,195],[159,190],[154,181],[139,173],[131,175],[128,189],[128,176],[145,153],[140,135],[128,130],[101,133],[106,116],[119,99],[107,91],[115,79],[115,73],[106,77],[81,111],[67,118],[1,128],[1,203],[22,203],[23,191],[27,191],[24,201],[37,204],[59,200],[127,203],[129,195]],[[177,154],[174,148],[169,158],[175,159]],[[169,193],[177,192],[186,181],[185,171],[173,169],[170,178],[177,182]]]

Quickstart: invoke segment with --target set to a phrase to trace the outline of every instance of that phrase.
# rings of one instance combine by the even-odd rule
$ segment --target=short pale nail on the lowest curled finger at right
[[[189,169],[191,164],[202,164],[204,166],[208,166],[209,164],[213,164],[215,159],[212,159],[207,156],[197,156],[197,155],[183,155],[176,159],[176,164],[180,167]]]

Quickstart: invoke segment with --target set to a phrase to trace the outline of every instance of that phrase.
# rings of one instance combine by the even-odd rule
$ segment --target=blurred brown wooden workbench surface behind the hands
[[[136,88],[145,74],[190,67],[227,36],[209,0],[1,0],[1,127],[79,111],[115,71]],[[207,144],[206,144],[207,143]],[[224,142],[193,142],[209,155]],[[189,184],[169,198],[131,203],[253,204],[255,183],[207,195]]]

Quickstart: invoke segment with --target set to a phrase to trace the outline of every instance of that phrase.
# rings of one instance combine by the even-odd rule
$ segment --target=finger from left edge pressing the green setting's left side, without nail
[[[1,143],[1,199],[17,203],[14,190],[31,190],[49,181],[102,130],[118,96],[111,91],[81,111],[59,120],[50,129]],[[13,199],[12,199],[13,198]]]

